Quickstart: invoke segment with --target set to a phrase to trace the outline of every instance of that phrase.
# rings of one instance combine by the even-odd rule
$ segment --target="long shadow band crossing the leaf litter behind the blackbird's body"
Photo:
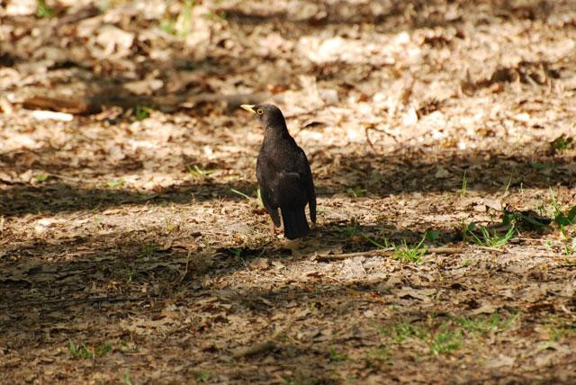
[[[525,157],[492,152],[468,151],[428,153],[425,156],[399,154],[379,156],[366,149],[362,157],[342,157],[338,166],[330,166],[334,159],[325,155],[311,157],[312,172],[317,163],[329,165],[329,172],[315,175],[317,194],[331,196],[347,193],[348,189],[365,189],[369,196],[388,196],[400,193],[456,192],[462,187],[466,172],[467,189],[479,193],[504,192],[507,188],[544,188],[558,185],[572,187],[576,169],[570,157],[535,155]],[[435,159],[435,160],[422,160]],[[7,169],[20,166],[4,161]],[[58,165],[58,168],[60,166]],[[442,175],[438,175],[439,170]],[[44,165],[39,172],[50,173]],[[127,172],[133,173],[133,168]],[[59,172],[62,172],[60,169]],[[121,173],[121,167],[114,169]],[[332,177],[338,175],[338,182]],[[52,179],[54,180],[54,179]],[[196,201],[241,201],[245,198],[232,192],[252,194],[256,185],[247,181],[233,183],[205,179],[194,184],[187,182],[157,193],[139,193],[120,188],[90,189],[81,181],[47,181],[43,184],[11,184],[0,190],[0,207],[5,217],[26,213],[104,210],[109,207],[153,203],[189,203]]]

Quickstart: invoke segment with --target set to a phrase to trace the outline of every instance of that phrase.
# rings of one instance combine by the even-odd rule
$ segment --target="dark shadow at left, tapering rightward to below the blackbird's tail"
[[[9,311],[14,321],[4,323],[4,331],[35,327],[39,319],[46,325],[52,319],[50,313],[60,317],[61,311],[77,306],[168,300],[183,295],[181,291],[193,295],[205,289],[206,277],[213,281],[247,269],[257,257],[286,262],[294,258],[294,249],[314,255],[326,250],[333,253],[335,246],[341,252],[367,251],[376,247],[369,239],[411,242],[423,234],[333,222],[317,228],[302,244],[271,239],[257,246],[230,243],[207,250],[198,248],[194,235],[173,237],[181,242],[174,245],[152,231],[135,231],[4,246],[0,308]],[[446,241],[457,238],[457,232],[443,235]]]

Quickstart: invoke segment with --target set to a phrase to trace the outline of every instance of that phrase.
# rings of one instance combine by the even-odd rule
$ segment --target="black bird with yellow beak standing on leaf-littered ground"
[[[273,104],[242,104],[241,107],[256,114],[264,129],[256,164],[264,207],[276,228],[280,226],[280,209],[284,237],[303,237],[310,231],[304,212],[306,204],[309,205],[312,224],[316,223],[316,193],[308,158],[290,136],[278,107]]]

